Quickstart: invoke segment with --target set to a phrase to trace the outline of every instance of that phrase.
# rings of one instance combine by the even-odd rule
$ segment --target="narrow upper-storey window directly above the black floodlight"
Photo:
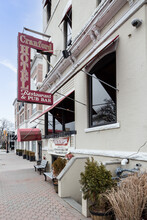
[[[65,48],[72,43],[72,8],[70,7],[64,17],[64,44]]]

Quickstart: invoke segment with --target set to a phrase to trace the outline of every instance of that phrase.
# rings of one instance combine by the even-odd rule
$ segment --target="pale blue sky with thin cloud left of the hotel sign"
[[[0,120],[12,123],[13,102],[17,98],[17,35],[24,27],[42,32],[42,0],[1,0]],[[24,33],[33,36],[31,32]]]

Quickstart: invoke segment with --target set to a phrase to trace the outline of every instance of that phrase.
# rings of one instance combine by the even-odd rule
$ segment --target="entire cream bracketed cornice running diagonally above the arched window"
[[[102,5],[100,5],[101,7],[97,8],[87,25],[82,29],[81,33],[75,38],[73,44],[69,48],[72,56],[76,59],[74,65],[72,65],[72,68],[66,75],[64,75],[64,77],[61,77],[60,81],[55,83],[55,85],[53,82],[55,82],[57,72],[60,71],[62,75],[62,73],[64,73],[64,71],[71,65],[72,61],[70,59],[63,59],[63,57],[61,57],[54,65],[54,69],[52,69],[50,72],[47,82],[52,83],[52,93],[57,91],[65,81],[69,80],[72,75],[74,75],[74,73],[77,71],[77,68],[80,68],[80,66],[86,62],[88,54],[94,53],[97,47],[110,38],[111,35],[118,30],[122,24],[124,24],[140,7],[146,3],[145,0],[136,2],[133,7],[122,15],[122,17],[103,36],[101,36],[100,33],[103,27],[105,27],[111,18],[114,17],[127,2],[128,0],[113,0],[110,3],[108,0],[106,0]],[[92,30],[91,36],[89,35],[89,30]],[[93,37],[97,38],[94,46],[92,46],[81,59],[78,59],[77,57],[84,50],[84,48],[95,40]],[[43,90],[43,86],[41,90]]]

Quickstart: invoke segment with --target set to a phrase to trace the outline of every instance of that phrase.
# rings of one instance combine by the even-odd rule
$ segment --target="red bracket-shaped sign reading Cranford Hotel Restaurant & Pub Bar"
[[[53,53],[53,43],[18,33],[18,91],[17,100],[44,105],[53,104],[53,96],[50,93],[31,90],[31,48]]]

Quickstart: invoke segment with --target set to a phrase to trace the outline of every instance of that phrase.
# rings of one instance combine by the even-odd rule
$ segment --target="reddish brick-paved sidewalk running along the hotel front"
[[[0,150],[0,220],[88,220],[61,199],[35,162]]]

